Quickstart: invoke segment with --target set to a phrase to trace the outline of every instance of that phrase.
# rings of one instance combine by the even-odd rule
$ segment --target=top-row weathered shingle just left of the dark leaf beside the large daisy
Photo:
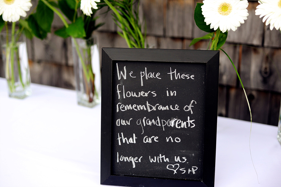
[[[166,36],[191,38],[193,12],[193,0],[168,0]]]

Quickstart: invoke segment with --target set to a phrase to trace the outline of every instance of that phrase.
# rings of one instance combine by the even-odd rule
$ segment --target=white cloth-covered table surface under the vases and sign
[[[76,104],[76,92],[32,84],[9,98],[0,78],[0,186],[100,185],[101,105]],[[281,186],[277,127],[218,117],[215,186]]]

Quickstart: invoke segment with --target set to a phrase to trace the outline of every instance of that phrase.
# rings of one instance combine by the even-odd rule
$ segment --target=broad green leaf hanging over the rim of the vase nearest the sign
[[[66,32],[71,37],[75,37],[75,38],[85,37],[86,32],[84,29],[84,22],[83,22],[82,17],[79,17],[78,19],[76,19],[75,23],[70,24],[68,26],[68,28],[66,29]]]

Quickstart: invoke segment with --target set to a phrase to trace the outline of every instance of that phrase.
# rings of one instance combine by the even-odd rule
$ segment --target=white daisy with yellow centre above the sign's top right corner
[[[205,22],[210,28],[222,32],[236,31],[249,16],[247,0],[204,0],[201,6]]]

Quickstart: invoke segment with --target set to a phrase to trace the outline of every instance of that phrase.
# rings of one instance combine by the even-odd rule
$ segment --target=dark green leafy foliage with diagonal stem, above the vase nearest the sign
[[[81,0],[58,0],[56,2],[40,0],[35,13],[32,13],[27,18],[28,25],[36,37],[44,39],[47,37],[47,33],[51,32],[55,12],[64,24],[64,27],[55,32],[56,35],[63,38],[88,39],[91,37],[92,32],[103,23],[96,25],[96,19],[98,17],[84,15],[79,9],[80,4]],[[96,9],[93,9],[93,15],[95,15],[96,11]],[[71,22],[70,24],[67,23],[65,17]]]

